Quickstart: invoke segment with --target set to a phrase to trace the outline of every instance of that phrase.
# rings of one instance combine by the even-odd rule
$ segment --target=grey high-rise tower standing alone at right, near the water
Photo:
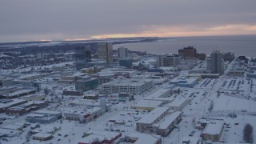
[[[210,70],[214,74],[222,74],[224,71],[224,60],[219,50],[214,50],[210,55]]]

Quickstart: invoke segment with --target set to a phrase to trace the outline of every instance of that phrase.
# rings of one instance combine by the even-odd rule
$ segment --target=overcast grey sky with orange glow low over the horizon
[[[1,0],[0,42],[256,34],[256,0]]]

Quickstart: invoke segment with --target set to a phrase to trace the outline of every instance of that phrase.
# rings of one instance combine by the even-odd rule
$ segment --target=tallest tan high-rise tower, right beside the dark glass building
[[[113,62],[113,46],[111,42],[98,43],[98,58],[105,60],[108,65]]]

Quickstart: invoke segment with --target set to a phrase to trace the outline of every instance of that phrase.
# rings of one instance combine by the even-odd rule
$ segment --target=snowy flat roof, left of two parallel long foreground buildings
[[[152,124],[157,118],[159,118],[167,110],[169,110],[168,107],[156,107],[154,110],[150,111],[149,114],[142,117],[142,119],[140,119],[137,123]]]

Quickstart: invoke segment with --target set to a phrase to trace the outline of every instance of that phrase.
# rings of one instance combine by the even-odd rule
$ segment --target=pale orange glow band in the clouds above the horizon
[[[195,29],[195,30],[193,30]],[[131,37],[185,37],[214,35],[246,35],[256,34],[254,25],[214,26],[200,30],[196,26],[150,26],[150,30],[136,34],[98,34],[90,38],[131,38]]]

